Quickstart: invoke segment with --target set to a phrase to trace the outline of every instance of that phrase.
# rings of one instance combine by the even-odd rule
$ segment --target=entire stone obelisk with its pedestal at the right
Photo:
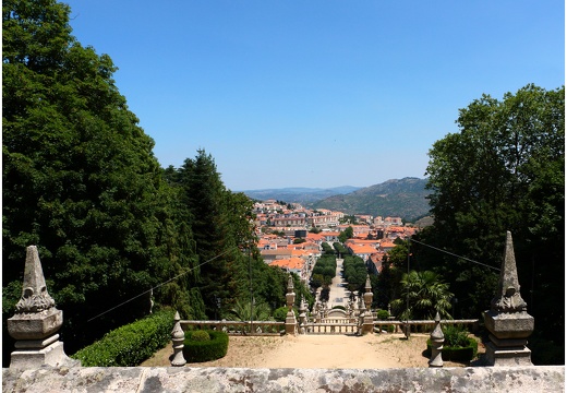
[[[531,350],[526,347],[533,332],[533,317],[520,296],[516,257],[511,234],[506,234],[506,248],[500,279],[491,309],[484,312],[484,324],[490,331],[485,362],[488,366],[532,366]]]

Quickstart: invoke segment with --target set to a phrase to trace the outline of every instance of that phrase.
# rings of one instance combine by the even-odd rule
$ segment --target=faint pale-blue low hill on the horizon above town
[[[331,195],[347,194],[357,190],[360,190],[360,187],[341,186],[329,189],[290,187],[284,189],[246,190],[242,192],[260,201],[274,199],[287,203],[301,203],[306,205]]]

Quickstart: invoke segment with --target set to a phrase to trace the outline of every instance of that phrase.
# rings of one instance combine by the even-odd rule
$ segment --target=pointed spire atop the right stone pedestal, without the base
[[[516,257],[514,255],[514,243],[510,231],[506,233],[506,248],[504,250],[504,262],[500,270],[500,279],[496,297],[492,299],[491,309],[496,312],[522,312],[527,311],[528,305],[520,295],[518,271],[516,269]]]

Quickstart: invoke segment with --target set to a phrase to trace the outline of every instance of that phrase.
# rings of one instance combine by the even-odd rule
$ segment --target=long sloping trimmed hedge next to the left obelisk
[[[173,311],[164,310],[118,327],[71,356],[83,367],[134,367],[171,341]]]

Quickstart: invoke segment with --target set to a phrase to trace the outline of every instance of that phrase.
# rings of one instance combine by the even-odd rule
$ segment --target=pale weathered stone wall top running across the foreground
[[[563,392],[565,366],[408,369],[74,367],[2,370],[2,392]]]

